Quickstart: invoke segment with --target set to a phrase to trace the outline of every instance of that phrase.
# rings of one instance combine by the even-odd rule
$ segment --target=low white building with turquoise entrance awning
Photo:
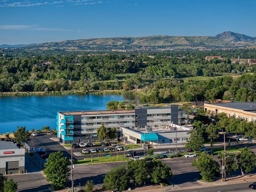
[[[159,144],[182,144],[189,139],[187,134],[193,126],[180,126],[166,128],[129,128],[121,126],[120,130],[123,137],[127,137],[127,143],[139,144],[143,146],[143,143],[151,145]]]

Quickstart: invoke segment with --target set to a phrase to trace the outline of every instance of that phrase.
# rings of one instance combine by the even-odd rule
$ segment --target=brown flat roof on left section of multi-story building
[[[100,115],[100,114],[119,114],[119,113],[135,113],[135,109],[118,109],[118,110],[98,110],[98,111],[61,111],[63,115]]]

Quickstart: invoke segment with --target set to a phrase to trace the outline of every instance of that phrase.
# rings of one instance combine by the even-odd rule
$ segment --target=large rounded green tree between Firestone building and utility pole
[[[60,190],[65,187],[68,181],[69,161],[67,157],[63,157],[63,153],[58,151],[49,155],[48,161],[44,164],[44,174],[46,180],[52,183],[55,190]]]

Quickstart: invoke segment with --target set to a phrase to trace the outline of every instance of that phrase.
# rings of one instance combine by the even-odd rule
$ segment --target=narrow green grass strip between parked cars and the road
[[[93,157],[93,161],[91,161],[91,158],[85,158],[82,160],[76,160],[74,161],[74,164],[89,164],[89,163],[104,163],[104,162],[115,162],[116,156],[109,156],[109,157]],[[128,161],[129,157],[124,158],[124,161]],[[117,161],[123,161],[123,156],[119,155],[117,157]]]

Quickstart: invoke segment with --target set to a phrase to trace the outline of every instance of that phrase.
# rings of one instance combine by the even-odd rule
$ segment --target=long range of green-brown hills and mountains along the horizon
[[[143,37],[113,37],[66,40],[29,45],[0,45],[2,47],[67,47],[67,46],[90,46],[90,45],[146,45],[161,46],[175,44],[204,44],[204,45],[256,45],[256,37],[246,36],[231,31],[225,31],[216,36],[143,36]]]

